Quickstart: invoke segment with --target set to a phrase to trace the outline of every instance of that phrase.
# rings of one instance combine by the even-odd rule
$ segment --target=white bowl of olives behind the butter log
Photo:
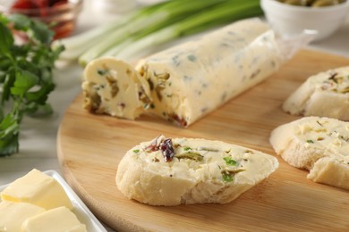
[[[285,37],[302,34],[305,29],[316,30],[315,41],[325,39],[336,32],[349,12],[349,1],[311,0],[260,0],[268,23]],[[320,5],[321,4],[321,5]]]

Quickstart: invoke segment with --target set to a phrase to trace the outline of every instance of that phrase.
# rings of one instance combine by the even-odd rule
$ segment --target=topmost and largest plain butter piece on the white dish
[[[60,206],[72,209],[68,195],[55,178],[35,169],[13,181],[4,189],[1,197],[4,201],[32,203],[46,210]]]

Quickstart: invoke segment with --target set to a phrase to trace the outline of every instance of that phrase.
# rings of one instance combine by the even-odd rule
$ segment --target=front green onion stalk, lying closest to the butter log
[[[157,30],[149,35],[136,35],[108,50],[103,56],[116,56],[119,59],[132,61],[140,51],[149,47],[159,46],[175,38],[190,36],[203,30],[224,25],[231,21],[238,21],[262,14],[259,1],[226,1],[218,4],[207,12],[200,12],[178,21],[164,29]]]

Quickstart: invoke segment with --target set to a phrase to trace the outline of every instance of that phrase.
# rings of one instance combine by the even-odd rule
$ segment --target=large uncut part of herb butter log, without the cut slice
[[[279,64],[274,33],[251,19],[153,54],[136,69],[149,82],[149,110],[185,127],[266,79]]]

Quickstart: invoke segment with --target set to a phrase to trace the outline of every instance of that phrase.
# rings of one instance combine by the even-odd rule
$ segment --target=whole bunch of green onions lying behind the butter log
[[[261,14],[259,0],[172,0],[130,12],[53,46],[64,45],[60,59],[78,60],[81,66],[106,55],[129,60],[150,46]]]

